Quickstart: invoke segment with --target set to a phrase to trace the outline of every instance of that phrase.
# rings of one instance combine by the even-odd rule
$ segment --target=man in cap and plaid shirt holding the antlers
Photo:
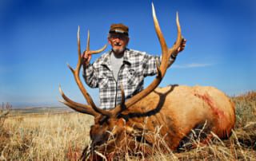
[[[102,54],[93,64],[90,64],[90,52],[85,51],[82,56],[83,77],[91,88],[99,88],[100,107],[103,109],[111,109],[121,103],[121,85],[126,99],[129,99],[142,91],[144,77],[157,73],[157,61],[160,57],[127,49],[128,31],[129,28],[123,24],[113,24],[108,35],[108,43],[112,49]],[[183,39],[177,53],[171,56],[170,65],[185,45],[186,40]]]

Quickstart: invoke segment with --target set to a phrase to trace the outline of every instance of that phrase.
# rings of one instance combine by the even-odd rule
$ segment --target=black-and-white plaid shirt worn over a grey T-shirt
[[[126,99],[142,91],[144,77],[157,73],[156,62],[159,59],[145,52],[126,49],[116,81],[110,65],[110,54],[111,51],[102,54],[92,65],[84,67],[83,73],[86,84],[91,88],[99,88],[100,108],[103,109],[111,109],[121,103],[120,84]],[[170,63],[173,62],[171,58]]]

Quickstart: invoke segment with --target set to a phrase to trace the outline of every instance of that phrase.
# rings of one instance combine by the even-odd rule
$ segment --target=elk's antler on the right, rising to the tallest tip
[[[176,24],[177,24],[177,28],[178,28],[178,36],[177,36],[177,39],[176,39],[176,43],[173,45],[173,47],[171,49],[168,49],[168,47],[166,45],[165,38],[162,35],[162,31],[161,31],[159,23],[158,23],[158,18],[156,17],[156,14],[155,14],[153,3],[152,3],[152,14],[153,14],[153,19],[154,19],[154,28],[155,28],[155,31],[158,35],[158,40],[160,41],[160,45],[161,45],[161,49],[162,49],[161,65],[157,67],[158,68],[158,75],[154,79],[154,81],[147,88],[142,90],[142,92],[139,92],[138,94],[136,94],[135,96],[130,98],[130,100],[127,100],[125,104],[119,104],[117,107],[115,107],[114,109],[112,109],[110,111],[105,111],[105,112],[102,111],[101,113],[103,115],[106,115],[106,116],[109,116],[109,117],[116,117],[116,116],[118,116],[118,114],[120,112],[123,111],[124,107],[122,107],[122,106],[125,106],[125,108],[129,108],[133,104],[137,103],[139,100],[142,100],[142,98],[147,96],[150,92],[154,91],[154,89],[158,87],[158,84],[160,84],[160,82],[162,81],[162,78],[166,74],[166,69],[169,66],[169,60],[170,60],[171,54],[175,53],[178,50],[179,46],[182,44],[182,31],[181,31],[181,26],[180,26],[179,21],[178,21],[178,13],[176,15]]]

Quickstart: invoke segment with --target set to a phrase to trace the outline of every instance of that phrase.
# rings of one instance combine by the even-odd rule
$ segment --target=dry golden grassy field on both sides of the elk
[[[237,122],[227,140],[217,137],[209,146],[149,158],[126,160],[256,160],[256,92],[232,97]],[[66,108],[68,109],[68,108]],[[26,111],[28,110],[28,111]],[[13,110],[0,121],[0,160],[77,160],[90,143],[93,117],[60,108]],[[197,142],[198,140],[194,140]]]

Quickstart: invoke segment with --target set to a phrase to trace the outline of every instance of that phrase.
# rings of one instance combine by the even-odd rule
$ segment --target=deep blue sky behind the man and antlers
[[[130,27],[129,48],[158,55],[151,2],[1,0],[0,102],[56,105],[61,99],[58,84],[70,98],[85,102],[66,67],[77,62],[78,26],[82,49],[88,29],[91,49],[99,49],[110,25],[122,22]],[[254,0],[158,0],[154,6],[167,44],[176,38],[176,11],[187,39],[161,86],[214,86],[230,96],[256,90]],[[146,84],[153,78],[146,78]],[[86,88],[98,102],[98,89]]]

